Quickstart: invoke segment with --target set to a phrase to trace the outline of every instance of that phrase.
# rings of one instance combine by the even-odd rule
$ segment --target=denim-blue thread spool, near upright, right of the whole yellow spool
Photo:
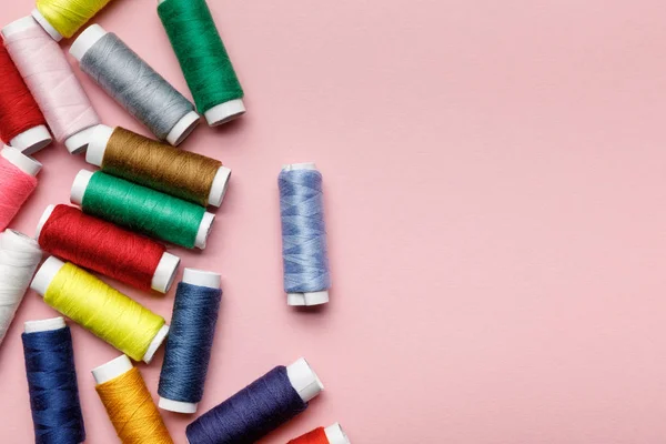
[[[160,374],[160,408],[196,412],[203,397],[221,297],[218,273],[185,269],[175,292]]]

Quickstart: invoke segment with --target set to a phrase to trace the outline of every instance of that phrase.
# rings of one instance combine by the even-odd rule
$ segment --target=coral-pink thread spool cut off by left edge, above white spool
[[[41,167],[16,148],[0,150],[0,231],[9,225],[37,188],[36,176]]]

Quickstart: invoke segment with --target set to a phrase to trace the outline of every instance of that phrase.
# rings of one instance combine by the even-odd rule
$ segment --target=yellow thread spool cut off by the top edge
[[[56,41],[77,33],[111,0],[37,0],[32,18]]]

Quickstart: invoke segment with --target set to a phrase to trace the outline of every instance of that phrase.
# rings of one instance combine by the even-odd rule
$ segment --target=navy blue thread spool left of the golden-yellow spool
[[[62,317],[28,321],[23,354],[37,444],[79,444],[85,426],[79,401],[74,349]]]

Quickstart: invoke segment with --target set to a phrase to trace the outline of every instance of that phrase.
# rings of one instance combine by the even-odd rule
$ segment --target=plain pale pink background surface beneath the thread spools
[[[176,250],[223,275],[201,413],[303,355],[326,392],[262,443],[335,421],[355,444],[664,442],[666,3],[210,3],[249,113],[184,144],[234,171],[209,248]],[[3,2],[0,22],[32,4]],[[99,22],[188,93],[154,1]],[[107,124],[145,133],[81,78]],[[13,224],[30,234],[87,167],[37,157]],[[276,176],[311,160],[334,289],[302,313]],[[170,317],[173,293],[129,294]],[[20,331],[54,314],[29,293],[0,350],[0,442],[32,441]],[[72,330],[88,442],[117,442],[89,370],[118,352]],[[161,360],[141,365],[153,394]],[[164,418],[184,443],[191,418]]]

